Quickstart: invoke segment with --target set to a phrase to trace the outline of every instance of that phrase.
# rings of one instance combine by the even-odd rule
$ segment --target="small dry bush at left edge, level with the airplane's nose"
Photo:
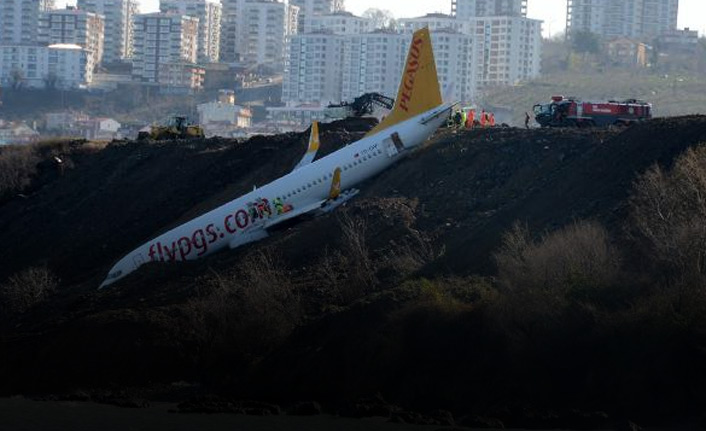
[[[0,285],[0,299],[10,313],[24,313],[56,291],[59,281],[46,267],[27,268]]]

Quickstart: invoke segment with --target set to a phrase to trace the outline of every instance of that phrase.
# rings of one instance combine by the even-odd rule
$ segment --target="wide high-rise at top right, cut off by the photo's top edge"
[[[651,42],[677,29],[679,0],[567,0],[566,5],[569,36],[588,31]]]

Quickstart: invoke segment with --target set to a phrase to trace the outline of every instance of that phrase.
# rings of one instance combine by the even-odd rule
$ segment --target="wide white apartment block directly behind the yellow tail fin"
[[[456,97],[471,101],[476,87],[473,38],[453,29],[431,35],[442,88],[453,82]],[[282,99],[295,107],[350,101],[371,92],[396,97],[409,43],[410,34],[385,31],[296,35],[289,50]]]

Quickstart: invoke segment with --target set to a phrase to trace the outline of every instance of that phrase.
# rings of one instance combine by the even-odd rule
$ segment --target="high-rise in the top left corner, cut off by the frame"
[[[54,0],[0,1],[0,45],[35,44],[39,14],[54,9]]]

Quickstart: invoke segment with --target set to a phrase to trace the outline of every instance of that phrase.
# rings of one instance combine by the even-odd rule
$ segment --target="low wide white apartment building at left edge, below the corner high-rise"
[[[92,53],[74,44],[0,46],[0,84],[28,88],[85,88]]]

